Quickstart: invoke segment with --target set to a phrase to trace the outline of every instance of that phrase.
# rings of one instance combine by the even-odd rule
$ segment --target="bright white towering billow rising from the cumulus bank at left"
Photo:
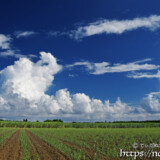
[[[37,100],[44,95],[54,80],[54,74],[61,70],[56,59],[50,54],[41,52],[37,63],[27,58],[20,58],[14,65],[2,70],[2,92],[11,92],[27,100]],[[10,93],[8,93],[10,94]]]

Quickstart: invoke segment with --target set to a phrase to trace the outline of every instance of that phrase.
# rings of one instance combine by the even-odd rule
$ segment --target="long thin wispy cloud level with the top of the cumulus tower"
[[[143,59],[141,61],[130,62],[126,64],[116,63],[111,65],[109,62],[93,63],[89,61],[75,62],[67,65],[67,68],[73,68],[75,66],[85,66],[85,70],[90,74],[100,75],[105,73],[120,73],[131,72],[140,70],[155,70],[160,68],[159,65],[148,64],[145,62],[151,61],[151,59]]]

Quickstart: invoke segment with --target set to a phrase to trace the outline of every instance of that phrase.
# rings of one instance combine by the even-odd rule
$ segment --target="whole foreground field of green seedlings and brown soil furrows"
[[[159,128],[0,128],[1,133],[0,160],[160,159]]]

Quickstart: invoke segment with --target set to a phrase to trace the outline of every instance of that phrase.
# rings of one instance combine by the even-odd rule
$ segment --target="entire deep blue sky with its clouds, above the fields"
[[[86,117],[87,120],[93,121],[158,119],[160,112],[159,5],[158,0],[1,1],[0,106],[2,114],[0,117],[18,119],[22,116],[34,119],[30,111],[33,108],[31,106],[40,102],[42,104],[42,99],[45,99],[45,105],[48,105],[44,107],[45,109],[36,108],[34,115],[37,119],[48,117],[82,121],[86,120]],[[42,51],[44,54],[40,56],[39,53]],[[56,59],[56,63],[53,57],[47,54],[48,52]],[[24,68],[26,75],[32,75],[30,78],[38,77],[36,80],[39,83],[42,79],[46,83],[42,82],[43,84],[36,88],[35,80],[29,79],[29,76],[26,79],[18,79],[19,76],[25,76],[19,75],[21,71],[16,66],[17,61],[18,67],[22,70],[23,63],[20,59],[27,59],[25,64],[32,63],[32,67],[48,66],[50,70],[47,71],[51,75],[47,75],[47,78],[46,75],[41,77],[43,72],[39,73],[37,71],[39,69],[35,66],[32,74],[31,70],[28,70],[28,65]],[[51,65],[54,68],[50,67],[50,63],[55,63]],[[7,69],[7,66],[13,67],[14,73],[11,72],[11,67]],[[57,66],[61,68],[57,69]],[[51,70],[54,72],[50,72]],[[33,82],[25,83],[27,81]],[[18,84],[20,87],[16,88]],[[34,96],[38,91],[33,93],[33,96],[28,96],[30,94],[28,89],[25,90],[21,84],[25,84],[25,87],[31,91],[34,88],[33,90],[42,92],[39,92],[39,100]],[[41,85],[44,85],[42,91],[39,89]],[[8,91],[7,87],[13,90]],[[67,90],[63,90],[65,88]],[[57,98],[56,94],[59,92],[70,94],[67,97],[69,99],[65,97],[67,100],[64,100],[63,93]],[[44,95],[49,96],[52,99],[50,101],[56,101],[58,105],[56,111],[51,111],[54,110],[55,105],[43,98]],[[81,104],[78,100],[83,98],[81,99],[80,96],[88,102]],[[13,97],[18,97],[17,104],[12,103]],[[118,97],[120,97],[119,101]],[[64,107],[64,103],[60,102],[61,98],[65,102],[70,101],[69,104],[65,104],[70,106],[70,112]],[[109,100],[108,107],[111,108],[106,111],[106,114],[102,115],[100,109],[99,116],[95,116],[94,107],[101,108],[99,104],[92,106],[92,103],[95,103],[92,101],[95,99],[101,101],[102,108],[106,107],[105,101]],[[118,102],[120,104],[117,104]],[[16,108],[20,104],[29,109],[22,112],[23,107]],[[87,105],[88,109],[86,109]],[[52,106],[51,110],[48,109],[49,106]],[[78,106],[78,109],[75,109],[75,106]],[[120,106],[125,111],[118,115],[116,108]],[[14,113],[11,114],[13,110]]]

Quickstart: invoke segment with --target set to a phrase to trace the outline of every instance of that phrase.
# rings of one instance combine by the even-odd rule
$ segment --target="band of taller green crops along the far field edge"
[[[18,128],[159,128],[159,123],[62,123],[62,122],[22,122],[0,121],[0,127]]]

